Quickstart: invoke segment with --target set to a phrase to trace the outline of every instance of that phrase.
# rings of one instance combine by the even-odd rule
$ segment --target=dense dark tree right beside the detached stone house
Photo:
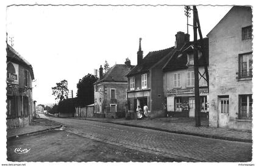
[[[77,100],[79,106],[86,106],[94,103],[93,83],[97,81],[97,77],[87,74],[77,83]]]

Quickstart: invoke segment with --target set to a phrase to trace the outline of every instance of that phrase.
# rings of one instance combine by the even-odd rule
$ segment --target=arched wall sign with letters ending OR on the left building
[[[7,83],[19,84],[19,65],[12,62],[7,62]]]

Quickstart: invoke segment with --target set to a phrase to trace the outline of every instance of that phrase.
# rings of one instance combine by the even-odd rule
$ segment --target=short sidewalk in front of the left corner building
[[[24,136],[27,134],[40,133],[42,131],[52,130],[55,128],[60,128],[62,124],[54,122],[48,119],[33,119],[29,126],[24,126],[23,128],[12,128],[7,130],[7,139],[12,139],[16,136]]]

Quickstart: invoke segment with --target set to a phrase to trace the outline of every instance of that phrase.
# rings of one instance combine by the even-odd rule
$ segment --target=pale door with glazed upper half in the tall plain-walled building
[[[229,123],[229,98],[219,98],[219,126],[227,127]]]

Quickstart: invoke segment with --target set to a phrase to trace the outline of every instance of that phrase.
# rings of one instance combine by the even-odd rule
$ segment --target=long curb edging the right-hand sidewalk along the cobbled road
[[[252,143],[252,140],[249,140],[249,139],[238,139],[238,138],[233,138],[233,137],[213,136],[213,135],[208,135],[208,134],[190,133],[187,131],[167,130],[167,129],[155,128],[155,127],[151,127],[151,126],[132,125],[132,124],[118,123],[118,122],[104,122],[101,120],[93,120],[93,119],[81,119],[81,120],[90,120],[90,121],[102,122],[102,123],[112,123],[112,124],[116,124],[116,125],[132,126],[132,127],[137,127],[137,128],[146,128],[146,129],[151,129],[151,130],[165,131],[168,133],[184,134],[184,135],[197,136],[197,137],[207,137],[207,138],[211,138],[211,139],[221,139],[221,140]]]

